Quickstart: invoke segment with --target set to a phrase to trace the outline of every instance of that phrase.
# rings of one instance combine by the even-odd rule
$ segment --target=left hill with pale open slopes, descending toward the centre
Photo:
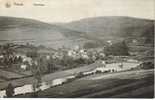
[[[1,42],[30,42],[37,45],[61,47],[72,45],[79,39],[80,32],[65,29],[54,24],[48,24],[32,19],[0,17]]]

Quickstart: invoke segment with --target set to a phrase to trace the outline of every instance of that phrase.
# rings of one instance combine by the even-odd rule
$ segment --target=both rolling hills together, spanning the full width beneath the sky
[[[53,48],[86,42],[135,38],[154,43],[154,21],[130,17],[95,17],[70,23],[48,24],[32,19],[0,17],[0,43],[17,42]],[[129,40],[130,41],[130,40]]]

